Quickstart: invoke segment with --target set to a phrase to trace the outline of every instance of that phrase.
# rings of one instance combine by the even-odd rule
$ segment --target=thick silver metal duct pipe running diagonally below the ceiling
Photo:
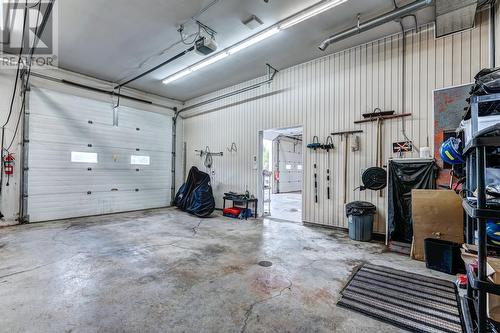
[[[368,20],[364,23],[358,22],[358,24],[352,28],[341,31],[337,34],[334,34],[327,39],[325,39],[320,45],[319,49],[321,51],[325,51],[330,44],[338,42],[340,40],[355,36],[361,32],[370,30],[372,28],[378,27],[382,24],[391,22],[395,19],[401,18],[408,14],[411,14],[419,9],[425,8],[432,4],[432,0],[419,0],[412,2],[406,6],[402,6],[400,8],[396,8],[393,11],[390,11],[384,15],[375,17],[371,20]]]

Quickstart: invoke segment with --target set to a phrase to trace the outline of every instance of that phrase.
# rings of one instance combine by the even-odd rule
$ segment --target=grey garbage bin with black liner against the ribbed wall
[[[377,212],[375,205],[365,201],[355,201],[346,205],[349,220],[349,238],[369,242],[373,234],[373,216]]]

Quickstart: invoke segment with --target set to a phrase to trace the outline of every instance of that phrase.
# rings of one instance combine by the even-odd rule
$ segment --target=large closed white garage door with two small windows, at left
[[[170,204],[170,116],[37,88],[29,112],[30,222]]]

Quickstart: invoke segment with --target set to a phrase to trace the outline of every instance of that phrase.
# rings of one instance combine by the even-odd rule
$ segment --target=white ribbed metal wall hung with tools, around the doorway
[[[270,128],[304,126],[304,145],[318,135],[324,141],[332,131],[362,129],[361,151],[349,153],[347,184],[343,183],[343,146],[331,155],[333,199],[326,200],[326,154],[319,159],[320,200],[314,203],[313,154],[305,151],[303,220],[310,223],[346,227],[343,187],[349,200],[366,200],[379,208],[375,230],[385,232],[385,194],[353,192],[360,182],[361,169],[376,162],[375,124],[354,125],[363,113],[376,107],[396,112],[412,112],[407,134],[418,146],[433,144],[432,91],[472,81],[475,73],[488,66],[488,12],[478,14],[476,27],[445,38],[435,39],[432,26],[407,32],[406,105],[402,107],[402,35],[357,46],[330,56],[282,70],[269,87],[214,102],[183,113],[187,141],[187,165],[203,170],[203,160],[195,149],[209,146],[226,151],[232,142],[237,153],[214,157],[214,192],[222,206],[224,191],[257,192],[257,170],[253,158],[258,154],[258,132]],[[187,105],[246,87],[255,79],[189,101]],[[206,112],[209,111],[209,112]],[[201,112],[206,112],[200,114]],[[385,159],[392,155],[392,142],[402,140],[401,120],[384,124]]]

